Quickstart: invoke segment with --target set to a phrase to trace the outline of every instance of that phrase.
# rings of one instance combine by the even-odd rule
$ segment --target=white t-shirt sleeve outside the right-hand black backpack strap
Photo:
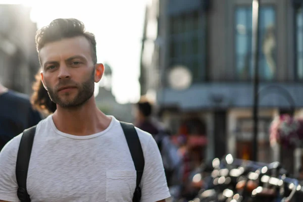
[[[150,136],[144,152],[144,171],[141,179],[141,202],[155,202],[170,197],[158,145]]]

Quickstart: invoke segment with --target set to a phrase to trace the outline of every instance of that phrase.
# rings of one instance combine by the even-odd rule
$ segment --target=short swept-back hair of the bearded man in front
[[[91,44],[92,60],[97,63],[96,40],[94,34],[85,30],[83,22],[74,18],[53,20],[49,25],[42,27],[36,34],[36,47],[39,53],[41,48],[49,42],[59,41],[64,38],[84,36]],[[40,61],[41,62],[41,61]]]

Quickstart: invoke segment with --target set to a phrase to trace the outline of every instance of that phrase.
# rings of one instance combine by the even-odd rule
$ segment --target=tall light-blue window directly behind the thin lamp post
[[[239,80],[250,80],[254,75],[251,55],[252,8],[237,7],[235,11],[235,67]],[[259,16],[259,76],[261,80],[274,79],[276,66],[275,10],[260,8]]]

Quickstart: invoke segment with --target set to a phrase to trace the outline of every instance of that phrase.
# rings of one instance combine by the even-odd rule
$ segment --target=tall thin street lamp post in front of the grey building
[[[252,141],[252,161],[258,161],[258,104],[259,104],[259,5],[252,1],[252,67],[254,68],[254,137]]]

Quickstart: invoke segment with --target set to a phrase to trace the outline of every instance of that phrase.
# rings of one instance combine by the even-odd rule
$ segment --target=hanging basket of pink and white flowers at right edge
[[[271,145],[284,148],[301,147],[303,144],[303,119],[289,115],[277,116],[270,126]]]

